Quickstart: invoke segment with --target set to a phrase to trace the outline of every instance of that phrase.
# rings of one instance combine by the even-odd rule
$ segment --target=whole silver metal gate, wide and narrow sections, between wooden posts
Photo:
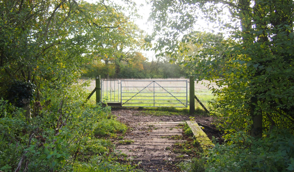
[[[109,106],[188,107],[188,81],[101,80],[101,100]]]

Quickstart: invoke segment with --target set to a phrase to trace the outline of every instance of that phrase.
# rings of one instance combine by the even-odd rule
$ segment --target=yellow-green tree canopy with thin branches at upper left
[[[61,88],[74,82],[83,64],[97,57],[126,56],[141,36],[132,22],[136,6],[126,3],[1,1],[1,94],[17,80],[36,85],[34,99],[40,99],[45,85]]]

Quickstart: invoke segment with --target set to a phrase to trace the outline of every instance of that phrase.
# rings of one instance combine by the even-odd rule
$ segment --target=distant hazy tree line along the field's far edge
[[[95,61],[85,65],[82,77],[94,78],[100,75],[101,78],[107,78],[109,72],[110,78],[179,78],[187,77],[193,72],[193,68],[188,68],[178,63],[170,63],[168,59],[140,61],[136,64],[123,63],[121,66],[106,64],[101,61]]]

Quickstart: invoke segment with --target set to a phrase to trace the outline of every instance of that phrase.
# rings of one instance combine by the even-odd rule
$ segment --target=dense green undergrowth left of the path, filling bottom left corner
[[[119,171],[113,166],[129,166],[114,162],[117,155],[109,155],[114,145],[97,139],[93,133],[101,126],[106,134],[124,132],[126,126],[108,119],[109,107],[83,104],[85,97],[78,85],[62,92],[54,90],[41,100],[42,110],[30,120],[26,120],[22,108],[1,99],[0,170],[72,171],[73,165],[92,162],[96,162],[91,165],[93,168],[108,171]]]

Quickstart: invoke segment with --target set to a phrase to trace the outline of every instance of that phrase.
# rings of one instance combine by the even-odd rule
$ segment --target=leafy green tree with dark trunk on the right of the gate
[[[223,127],[250,126],[254,137],[273,127],[293,131],[293,1],[155,0],[151,4],[154,32],[145,38],[146,48],[176,57],[188,52],[189,43],[202,47],[199,54],[187,56],[191,60],[184,65],[196,67],[197,80],[210,80],[221,88],[211,89],[218,96],[212,105],[224,117]],[[220,32],[195,35],[193,28],[200,19]]]

